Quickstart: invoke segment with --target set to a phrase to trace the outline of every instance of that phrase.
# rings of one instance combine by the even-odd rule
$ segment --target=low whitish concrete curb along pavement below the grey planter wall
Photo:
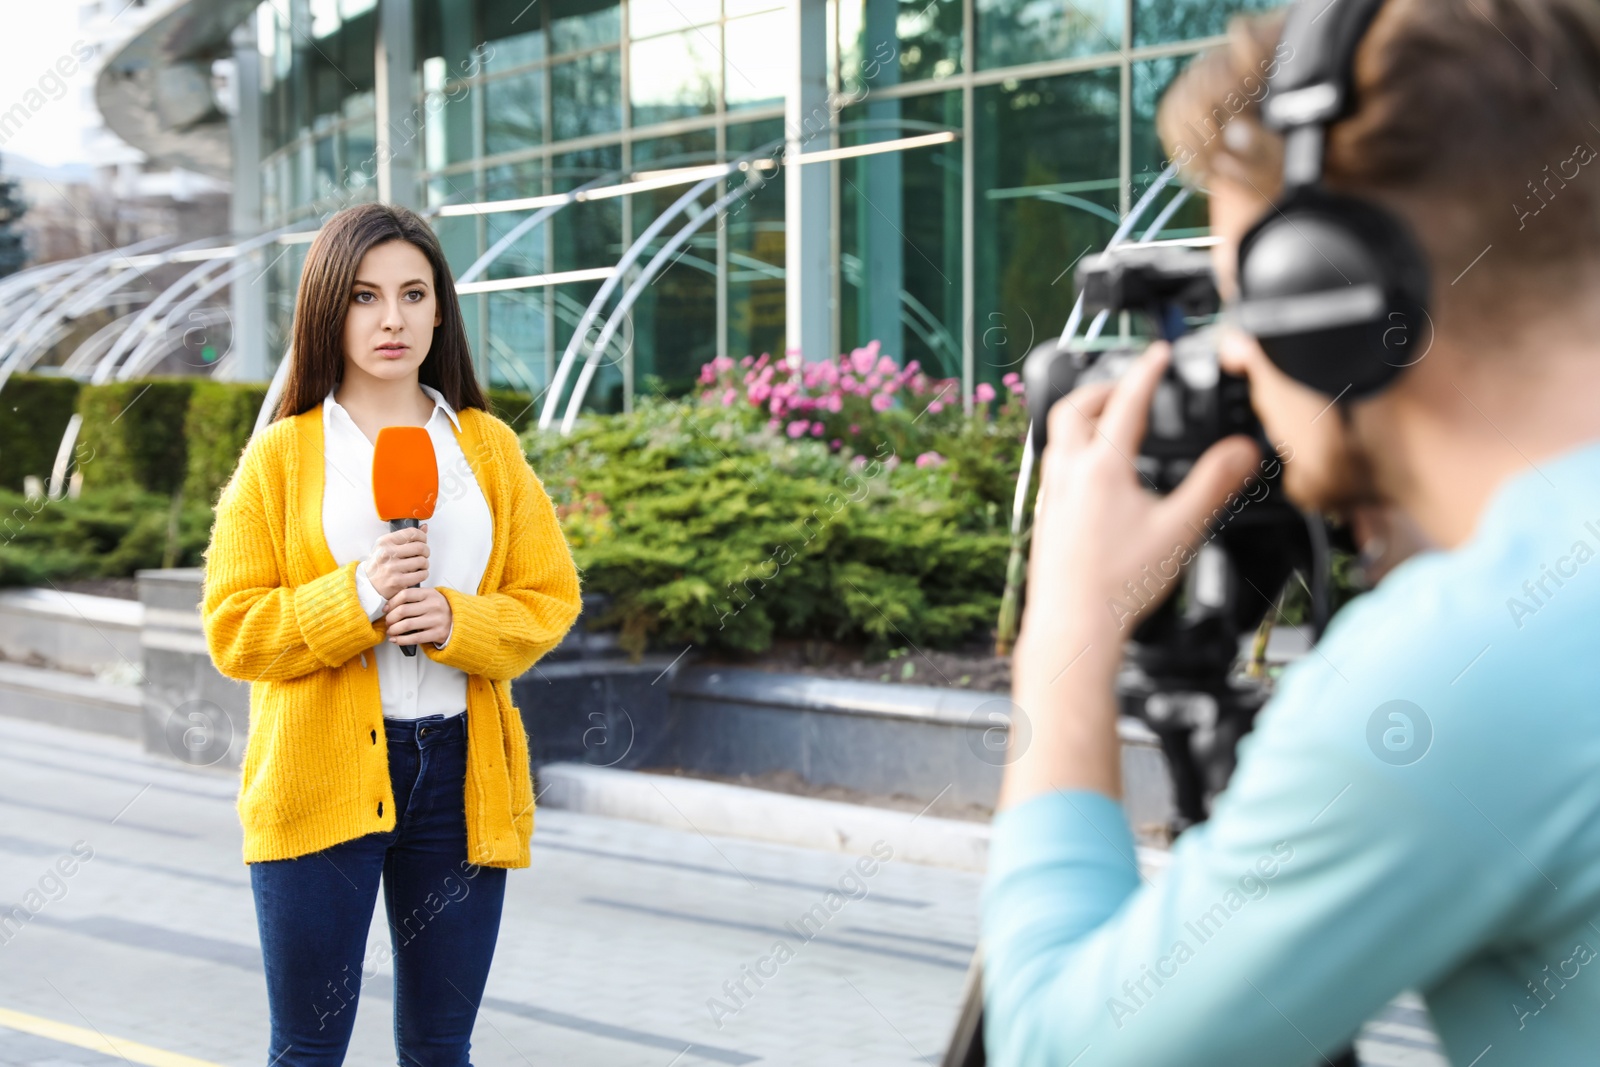
[[[538,779],[539,805],[563,811],[830,853],[866,854],[888,841],[904,862],[974,872],[989,865],[986,822],[582,763],[547,763]],[[1146,873],[1165,865],[1166,853],[1139,849]]]

